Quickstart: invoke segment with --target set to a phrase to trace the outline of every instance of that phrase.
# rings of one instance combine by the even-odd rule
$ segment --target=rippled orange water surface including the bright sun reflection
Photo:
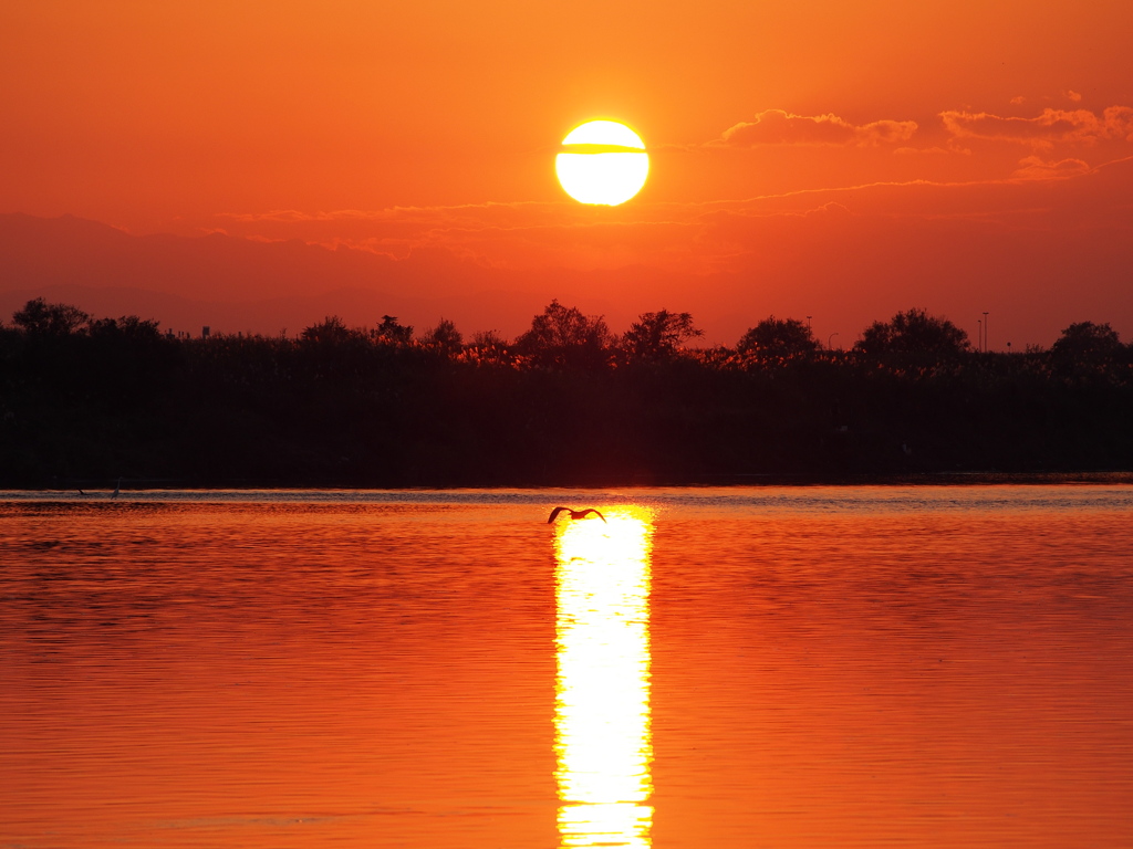
[[[0,847],[1130,846],[1131,552],[1128,487],[0,492]]]

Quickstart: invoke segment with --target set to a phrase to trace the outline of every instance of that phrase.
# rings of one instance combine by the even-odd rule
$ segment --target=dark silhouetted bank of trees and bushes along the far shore
[[[0,486],[525,486],[1133,471],[1133,345],[974,350],[923,310],[830,351],[796,319],[696,348],[557,301],[514,340],[329,317],[174,337],[29,301],[0,325]],[[760,475],[763,478],[760,478]]]

